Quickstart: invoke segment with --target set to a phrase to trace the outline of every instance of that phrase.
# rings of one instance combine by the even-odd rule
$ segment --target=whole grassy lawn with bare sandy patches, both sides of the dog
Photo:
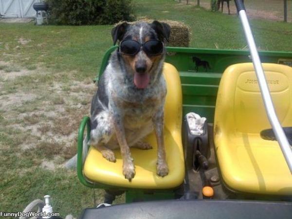
[[[187,24],[192,47],[246,47],[236,15],[174,0],[133,2],[138,18]],[[260,50],[292,51],[291,23],[252,19],[251,26]],[[112,46],[111,28],[0,23],[1,211],[21,211],[46,194],[62,217],[93,206],[93,190],[62,164],[76,153],[78,125],[96,89],[91,79]],[[102,194],[95,189],[96,203]]]

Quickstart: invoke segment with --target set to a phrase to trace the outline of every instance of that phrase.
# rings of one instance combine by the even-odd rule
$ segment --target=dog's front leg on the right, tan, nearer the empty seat
[[[165,147],[164,147],[164,111],[160,109],[152,119],[157,140],[157,168],[158,176],[166,176],[168,174],[168,166],[166,163]]]

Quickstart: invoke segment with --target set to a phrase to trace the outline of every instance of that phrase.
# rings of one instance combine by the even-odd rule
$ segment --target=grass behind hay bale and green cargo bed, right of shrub
[[[191,47],[242,49],[247,45],[237,16],[214,13],[174,0],[136,0],[136,14],[154,19],[179,20],[191,28]],[[225,5],[226,6],[226,5]],[[168,11],[162,13],[162,11]],[[261,50],[292,51],[292,24],[252,19],[251,27]]]

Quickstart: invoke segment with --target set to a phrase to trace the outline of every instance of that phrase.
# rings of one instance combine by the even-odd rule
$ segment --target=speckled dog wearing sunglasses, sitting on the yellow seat
[[[135,167],[130,147],[151,149],[143,139],[155,130],[157,139],[157,175],[168,174],[164,148],[164,101],[166,84],[163,76],[164,40],[169,40],[166,23],[123,22],[111,31],[112,53],[98,89],[91,101],[89,145],[115,162],[112,149],[120,148],[123,175],[130,182]]]

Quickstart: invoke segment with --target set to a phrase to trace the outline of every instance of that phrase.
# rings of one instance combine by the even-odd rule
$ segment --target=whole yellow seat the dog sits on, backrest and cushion
[[[120,150],[114,150],[116,163],[107,161],[101,153],[91,147],[84,164],[84,175],[93,182],[129,188],[168,189],[179,186],[184,179],[182,146],[182,87],[180,75],[171,64],[164,63],[164,78],[167,94],[164,105],[164,144],[169,174],[156,175],[157,145],[154,133],[146,137],[153,149],[131,148],[136,175],[129,182],[123,175]]]

